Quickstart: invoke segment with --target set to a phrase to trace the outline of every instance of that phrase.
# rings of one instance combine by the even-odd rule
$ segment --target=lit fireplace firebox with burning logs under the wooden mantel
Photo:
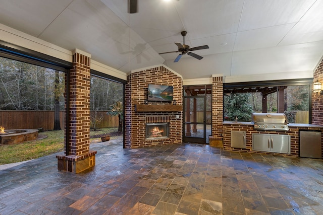
[[[169,135],[169,122],[146,123],[146,139],[168,138]]]

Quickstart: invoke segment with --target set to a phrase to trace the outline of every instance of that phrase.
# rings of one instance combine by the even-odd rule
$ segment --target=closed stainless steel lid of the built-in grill
[[[287,117],[284,113],[252,113],[252,122],[254,123],[275,123],[287,124]]]

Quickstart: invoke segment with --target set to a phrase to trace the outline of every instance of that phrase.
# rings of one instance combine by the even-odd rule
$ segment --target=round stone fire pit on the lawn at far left
[[[37,139],[37,129],[5,130],[0,133],[0,144],[19,144],[20,142]]]

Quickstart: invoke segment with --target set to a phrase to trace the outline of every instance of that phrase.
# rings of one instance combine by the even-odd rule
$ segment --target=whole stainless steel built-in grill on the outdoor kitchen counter
[[[255,130],[289,130],[284,113],[252,113],[251,119]]]

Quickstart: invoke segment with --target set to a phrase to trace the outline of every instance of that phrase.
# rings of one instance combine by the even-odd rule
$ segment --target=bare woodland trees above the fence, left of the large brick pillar
[[[54,69],[0,57],[0,109],[54,110],[55,77]]]

